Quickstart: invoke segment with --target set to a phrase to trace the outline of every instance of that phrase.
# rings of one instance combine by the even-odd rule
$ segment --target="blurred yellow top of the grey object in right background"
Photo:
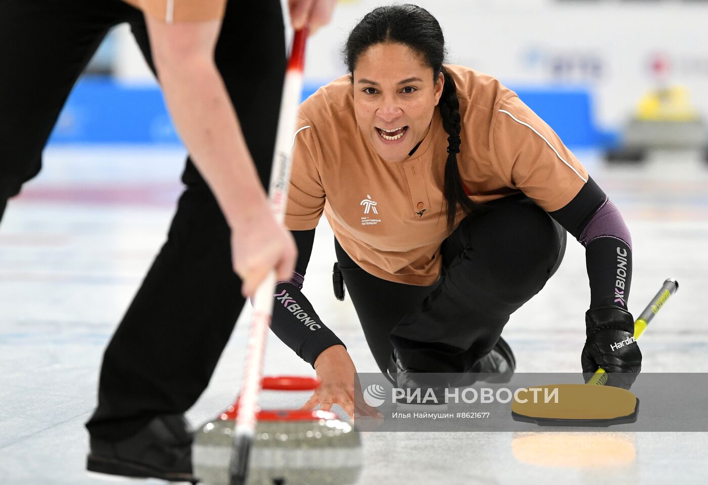
[[[683,86],[656,89],[646,93],[636,107],[636,118],[643,121],[695,121],[700,117]]]

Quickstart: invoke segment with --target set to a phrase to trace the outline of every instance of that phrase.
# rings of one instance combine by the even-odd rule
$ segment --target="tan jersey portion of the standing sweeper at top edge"
[[[125,0],[145,15],[167,23],[212,21],[224,17],[227,0]]]

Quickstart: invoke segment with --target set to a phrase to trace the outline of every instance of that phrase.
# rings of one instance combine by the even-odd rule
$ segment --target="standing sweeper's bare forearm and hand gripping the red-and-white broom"
[[[290,278],[295,245],[270,214],[214,62],[221,21],[168,24],[149,16],[146,21],[173,122],[232,229],[234,270],[244,280],[244,295],[252,295],[273,268],[278,278]]]

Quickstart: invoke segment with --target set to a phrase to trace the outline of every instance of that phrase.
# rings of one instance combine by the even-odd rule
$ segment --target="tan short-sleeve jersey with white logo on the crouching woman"
[[[497,79],[467,67],[447,69],[457,84],[457,164],[469,197],[484,203],[523,192],[549,212],[570,202],[588,174],[553,130]],[[310,96],[299,116],[287,227],[313,229],[324,212],[343,249],[368,273],[435,283],[448,235],[448,135],[438,108],[416,152],[399,162],[381,159],[361,135],[348,76]],[[456,224],[462,218],[459,210]]]

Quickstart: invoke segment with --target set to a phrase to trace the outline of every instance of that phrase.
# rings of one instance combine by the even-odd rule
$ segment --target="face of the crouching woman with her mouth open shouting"
[[[375,44],[354,69],[354,111],[359,130],[382,159],[401,161],[428,133],[442,94],[442,74],[403,44]]]

